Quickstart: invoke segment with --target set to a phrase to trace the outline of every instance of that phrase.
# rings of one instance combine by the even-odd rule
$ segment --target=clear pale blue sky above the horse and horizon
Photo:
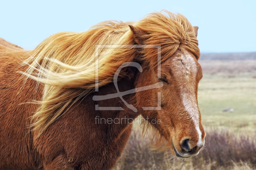
[[[0,37],[27,50],[53,33],[83,32],[104,20],[136,21],[166,9],[199,26],[201,52],[256,51],[256,0],[1,1]]]

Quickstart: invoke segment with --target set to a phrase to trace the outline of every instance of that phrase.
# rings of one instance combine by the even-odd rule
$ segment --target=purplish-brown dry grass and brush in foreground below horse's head
[[[256,131],[255,131],[256,133]],[[255,134],[235,135],[223,130],[210,130],[205,138],[204,149],[189,159],[172,158],[170,152],[158,152],[140,130],[133,130],[131,138],[115,166],[115,170],[235,170],[256,168]],[[253,136],[253,137],[252,137]]]

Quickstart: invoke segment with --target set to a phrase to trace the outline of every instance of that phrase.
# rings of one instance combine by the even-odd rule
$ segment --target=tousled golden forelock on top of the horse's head
[[[193,27],[187,18],[181,14],[163,10],[168,14],[161,12],[148,14],[140,21],[135,22],[132,30],[135,42],[147,45],[161,45],[161,63],[171,57],[178,49],[191,52],[196,59],[200,57],[198,41],[196,39],[198,27]],[[143,35],[144,34],[144,35]],[[145,36],[146,35],[146,36]],[[145,39],[145,37],[148,37]],[[143,40],[144,42],[141,42]],[[146,61],[151,65],[156,65],[156,49],[145,48],[142,51]]]

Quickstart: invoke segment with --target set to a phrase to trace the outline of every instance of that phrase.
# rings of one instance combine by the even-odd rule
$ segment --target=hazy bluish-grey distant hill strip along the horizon
[[[256,52],[251,52],[251,53],[201,53],[200,60],[256,60]]]

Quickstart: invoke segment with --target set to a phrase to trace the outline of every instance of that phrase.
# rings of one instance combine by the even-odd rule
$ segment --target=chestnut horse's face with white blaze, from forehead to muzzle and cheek
[[[195,156],[204,146],[205,132],[197,103],[202,76],[202,68],[194,55],[177,51],[161,64],[161,79],[157,78],[156,69],[144,67],[136,82],[136,87],[164,83],[162,88],[137,92],[137,104],[156,107],[157,92],[161,92],[161,110],[141,109],[141,114],[149,118],[148,122],[168,141],[177,157]]]

